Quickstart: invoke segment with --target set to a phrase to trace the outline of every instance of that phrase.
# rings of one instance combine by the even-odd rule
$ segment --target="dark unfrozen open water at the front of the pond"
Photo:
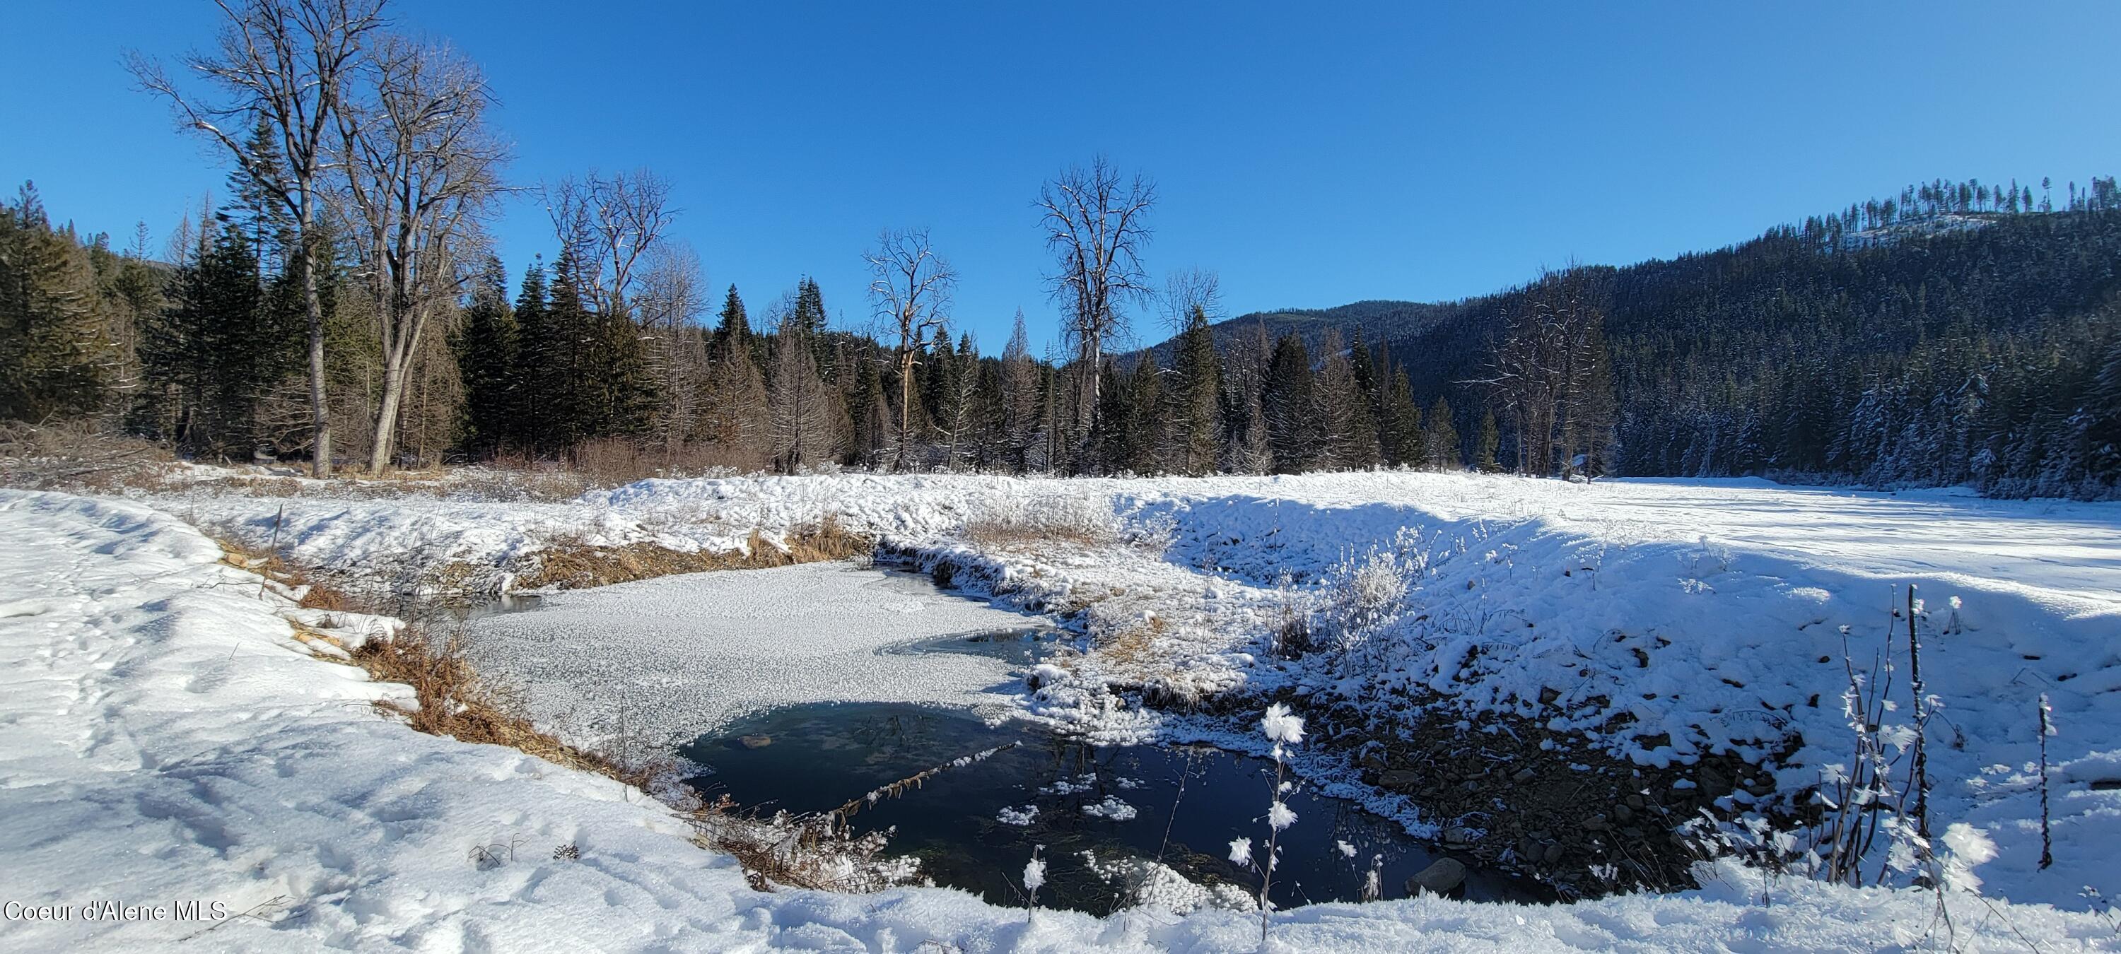
[[[744,740],[751,740],[747,744]],[[757,744],[759,738],[770,740]],[[1082,852],[1156,859],[1196,882],[1254,886],[1226,859],[1232,837],[1264,837],[1273,763],[1203,746],[1088,746],[1022,723],[927,706],[844,704],[766,712],[700,738],[683,755],[708,765],[694,784],[749,808],[821,812],[880,784],[1005,742],[1016,748],[929,778],[855,816],[857,831],[895,827],[891,850],[925,876],[1022,903],[1014,871],[1046,846],[1041,903],[1109,912],[1126,899]],[[1351,801],[1298,789],[1298,823],[1283,833],[1275,903],[1355,901],[1372,863],[1385,897],[1434,856]],[[1468,897],[1533,899],[1519,884],[1474,873]]]

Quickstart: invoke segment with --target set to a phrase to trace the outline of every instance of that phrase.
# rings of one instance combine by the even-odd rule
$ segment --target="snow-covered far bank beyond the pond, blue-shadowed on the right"
[[[974,591],[1069,615],[1099,651],[1031,702],[1094,736],[1156,734],[1162,700],[1245,685],[1379,712],[1421,697],[1470,719],[1538,719],[1648,765],[1688,767],[1718,750],[1758,761],[1794,740],[1796,753],[1769,765],[1784,795],[1847,759],[1841,628],[1869,659],[1892,625],[1894,587],[1917,583],[1930,691],[1945,704],[1932,814],[2002,844],[1983,865],[1992,890],[2081,907],[2085,884],[2117,895],[2121,882],[2100,861],[2121,854],[2121,505],[1427,473],[831,475],[641,481],[551,505],[218,492],[151,502],[255,545],[286,507],[291,558],[407,579],[452,562],[498,575],[566,541],[734,549],[753,530],[774,538],[831,517],[950,562]],[[969,532],[1050,513],[1071,526],[1103,513],[1107,541]],[[1364,666],[1264,659],[1292,615],[1338,619],[1347,606],[1334,600],[1372,549],[1413,575],[1364,608]],[[1150,710],[1114,706],[1111,691]],[[2045,871],[2026,837],[2038,795],[2023,767],[2040,691],[2062,725],[2051,780],[2068,844]],[[1307,774],[1362,784],[1345,763],[1313,761]]]

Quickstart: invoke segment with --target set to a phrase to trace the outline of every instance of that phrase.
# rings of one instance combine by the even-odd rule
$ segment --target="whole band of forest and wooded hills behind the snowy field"
[[[263,136],[252,151],[282,161]],[[1069,210],[1090,223],[1154,201],[1105,165],[1065,176],[1107,193]],[[867,252],[874,333],[834,329],[810,278],[764,320],[734,286],[711,314],[698,259],[613,212],[664,223],[666,189],[647,174],[551,187],[571,218],[556,259],[520,280],[464,242],[454,273],[384,288],[390,248],[358,242],[352,216],[316,225],[314,341],[299,229],[246,174],[176,229],[172,265],[148,261],[144,237],[119,254],[53,225],[23,189],[0,206],[0,418],[246,460],[314,456],[322,407],[369,471],[624,458],[643,473],[1474,466],[1998,496],[2121,485],[2113,178],[2070,187],[2059,210],[2030,189],[1936,182],[1673,261],[1220,324],[1213,273],[1150,293],[1139,259],[1107,248],[1126,273],[1077,282],[1069,263],[1092,257],[1056,227],[1065,348],[1044,360],[1022,316],[999,356],[954,331],[954,271],[918,231]],[[1071,299],[1090,286],[1105,299]],[[1184,333],[1111,352],[1126,301]]]

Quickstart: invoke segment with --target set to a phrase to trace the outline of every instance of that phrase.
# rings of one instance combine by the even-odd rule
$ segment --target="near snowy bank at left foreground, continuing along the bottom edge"
[[[259,581],[148,509],[0,492],[0,901],[199,899],[255,918],[0,920],[0,948],[1251,950],[1256,922],[1105,920],[969,895],[744,886],[638,793],[380,719]],[[401,695],[403,697],[403,695]],[[1302,823],[1298,823],[1300,827]],[[556,856],[575,846],[579,859]],[[477,861],[479,856],[488,861]],[[1277,950],[1877,950],[1941,939],[1922,893],[1775,886],[1557,907],[1415,899],[1277,916]],[[2117,950],[2091,914],[1956,901],[1958,943]]]

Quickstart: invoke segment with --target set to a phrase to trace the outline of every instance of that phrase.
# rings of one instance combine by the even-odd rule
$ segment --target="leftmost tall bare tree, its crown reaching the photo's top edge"
[[[170,100],[178,121],[221,144],[244,176],[295,220],[295,271],[310,331],[312,464],[331,477],[331,413],[325,403],[325,303],[316,254],[329,129],[363,42],[382,25],[382,0],[218,0],[225,23],[214,53],[193,53],[185,68],[227,95],[206,104],[187,95],[161,64],[140,53],[129,68],[148,93]],[[261,165],[238,138],[255,119],[280,140],[282,163]]]

